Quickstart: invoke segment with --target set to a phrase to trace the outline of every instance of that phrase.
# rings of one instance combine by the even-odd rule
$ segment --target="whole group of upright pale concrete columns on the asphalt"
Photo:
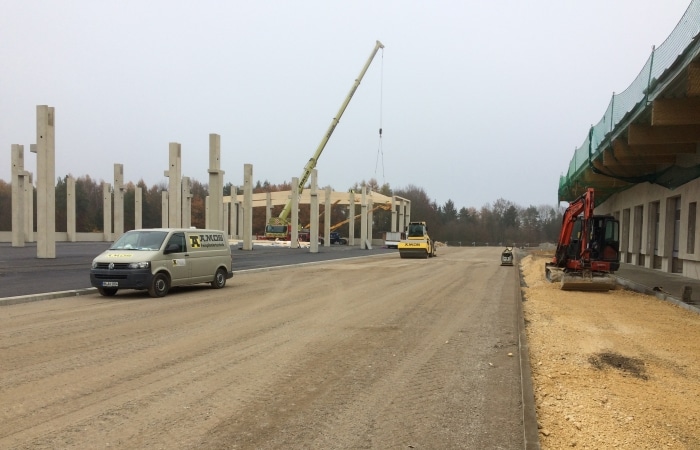
[[[37,153],[37,257],[55,258],[55,111],[53,107],[37,106],[37,142],[31,145],[31,151]],[[181,145],[171,142],[168,149],[169,168],[164,172],[168,177],[168,190],[162,193],[162,226],[164,228],[189,228],[191,226],[191,183],[189,177],[182,176]],[[209,192],[206,205],[206,227],[227,231],[227,234],[238,236],[242,234],[243,249],[252,250],[252,186],[253,166],[244,165],[243,204],[237,201],[237,193],[232,193],[230,203],[223,200],[223,175],[221,170],[221,138],[217,134],[209,135]],[[299,192],[298,178],[292,178],[292,234],[298,236]],[[317,172],[311,176],[312,196],[312,238],[314,248],[318,243],[318,186]],[[70,242],[76,240],[76,210],[75,210],[75,180],[67,178],[67,236]],[[103,223],[104,240],[112,241],[124,233],[124,166],[114,164],[114,185],[103,182]],[[141,188],[135,192],[135,226],[141,227],[142,208]],[[112,218],[112,201],[114,202],[114,218]],[[397,211],[398,206],[399,211]],[[32,174],[24,168],[24,146],[12,145],[12,245],[24,246],[32,242],[33,233],[33,185]],[[330,187],[326,188],[326,211],[330,211]],[[230,211],[229,211],[230,209]],[[401,225],[401,218],[410,215],[404,213],[404,200],[395,205],[392,199],[392,229]],[[269,221],[271,201],[268,195],[266,218]],[[350,194],[349,244],[355,242],[355,197]],[[372,236],[372,200],[367,196],[366,188],[362,191],[361,202],[361,238],[362,248],[371,248]],[[398,218],[397,218],[398,214]],[[114,219],[114,220],[112,220]],[[228,220],[226,220],[228,219]],[[113,227],[112,227],[112,224]],[[228,229],[231,232],[228,232]],[[325,236],[330,235],[330,214],[325,217]],[[329,240],[326,240],[328,245]],[[292,246],[297,247],[298,241],[292,240]],[[313,250],[312,251],[317,251]]]

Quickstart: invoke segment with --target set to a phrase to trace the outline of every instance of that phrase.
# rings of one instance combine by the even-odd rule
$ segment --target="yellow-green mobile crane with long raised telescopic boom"
[[[342,117],[343,113],[345,112],[345,108],[347,108],[348,104],[350,103],[352,96],[355,94],[357,87],[360,85],[362,78],[365,76],[365,72],[367,72],[367,69],[369,68],[370,64],[372,63],[374,56],[377,54],[377,52],[379,51],[380,48],[384,48],[384,45],[381,42],[377,41],[377,43],[374,46],[374,49],[372,50],[372,53],[369,55],[369,58],[367,59],[367,62],[365,63],[362,70],[360,71],[360,75],[355,80],[355,83],[352,85],[352,88],[350,88],[350,92],[345,97],[345,101],[343,102],[342,105],[340,105],[340,109],[338,110],[338,113],[335,115],[335,117],[331,121],[331,124],[328,127],[328,130],[323,135],[321,142],[318,144],[318,147],[316,148],[316,152],[313,154],[311,159],[309,159],[309,162],[307,162],[306,165],[304,166],[304,170],[301,172],[301,176],[299,177],[299,195],[301,195],[302,191],[304,190],[304,185],[306,185],[306,182],[308,181],[309,176],[311,175],[311,171],[316,167],[316,163],[318,162],[318,158],[321,156],[323,149],[326,147],[328,140],[331,138],[331,135],[333,134],[335,127],[338,126],[338,123],[340,122],[340,118]],[[279,216],[271,218],[270,221],[267,223],[267,226],[265,227],[265,237],[267,239],[278,239],[278,238],[285,239],[285,240],[291,239],[291,225],[289,223],[289,213],[291,212],[291,210],[292,210],[292,200],[290,199],[287,202],[287,204],[284,206],[284,208],[282,209],[282,212],[280,212]]]

